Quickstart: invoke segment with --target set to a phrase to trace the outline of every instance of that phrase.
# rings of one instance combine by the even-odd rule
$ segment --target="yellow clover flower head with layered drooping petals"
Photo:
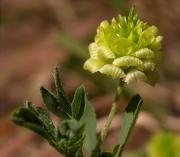
[[[161,42],[157,27],[139,20],[131,9],[128,17],[101,22],[84,69],[121,78],[127,84],[145,81],[153,85],[159,75]]]

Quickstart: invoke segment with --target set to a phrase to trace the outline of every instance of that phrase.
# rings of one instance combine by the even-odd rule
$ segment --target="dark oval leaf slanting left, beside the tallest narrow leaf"
[[[70,118],[64,111],[63,106],[58,102],[57,98],[48,89],[41,87],[41,95],[46,107],[58,117],[63,119]]]

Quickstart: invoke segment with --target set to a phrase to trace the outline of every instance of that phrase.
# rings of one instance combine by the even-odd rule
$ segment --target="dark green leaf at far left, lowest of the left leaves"
[[[56,129],[48,113],[40,107],[34,107],[30,102],[15,111],[11,118],[14,123],[33,130],[50,143],[56,139]]]

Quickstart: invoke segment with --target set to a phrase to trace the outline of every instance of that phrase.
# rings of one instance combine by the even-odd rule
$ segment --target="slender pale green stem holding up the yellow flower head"
[[[104,125],[104,128],[102,129],[101,131],[101,134],[99,136],[99,139],[98,139],[98,142],[96,144],[96,147],[94,149],[94,152],[93,154],[97,154],[99,153],[100,151],[100,145],[103,143],[103,141],[105,140],[108,132],[109,132],[109,129],[110,129],[110,126],[111,126],[111,122],[115,116],[115,114],[117,113],[118,111],[118,108],[119,108],[119,100],[121,98],[121,95],[122,95],[122,88],[123,88],[123,81],[120,79],[119,80],[119,83],[118,83],[118,86],[116,88],[116,94],[115,94],[115,98],[114,98],[114,101],[112,103],[112,107],[111,107],[111,110],[110,110],[110,113],[109,113],[109,116],[107,118],[107,121]],[[93,155],[93,156],[96,156],[96,155]]]

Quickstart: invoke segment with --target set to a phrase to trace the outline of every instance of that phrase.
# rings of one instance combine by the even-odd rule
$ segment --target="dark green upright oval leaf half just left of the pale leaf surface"
[[[84,113],[84,107],[85,107],[85,89],[83,86],[80,86],[76,90],[71,106],[72,106],[72,116],[76,120],[80,120]]]

